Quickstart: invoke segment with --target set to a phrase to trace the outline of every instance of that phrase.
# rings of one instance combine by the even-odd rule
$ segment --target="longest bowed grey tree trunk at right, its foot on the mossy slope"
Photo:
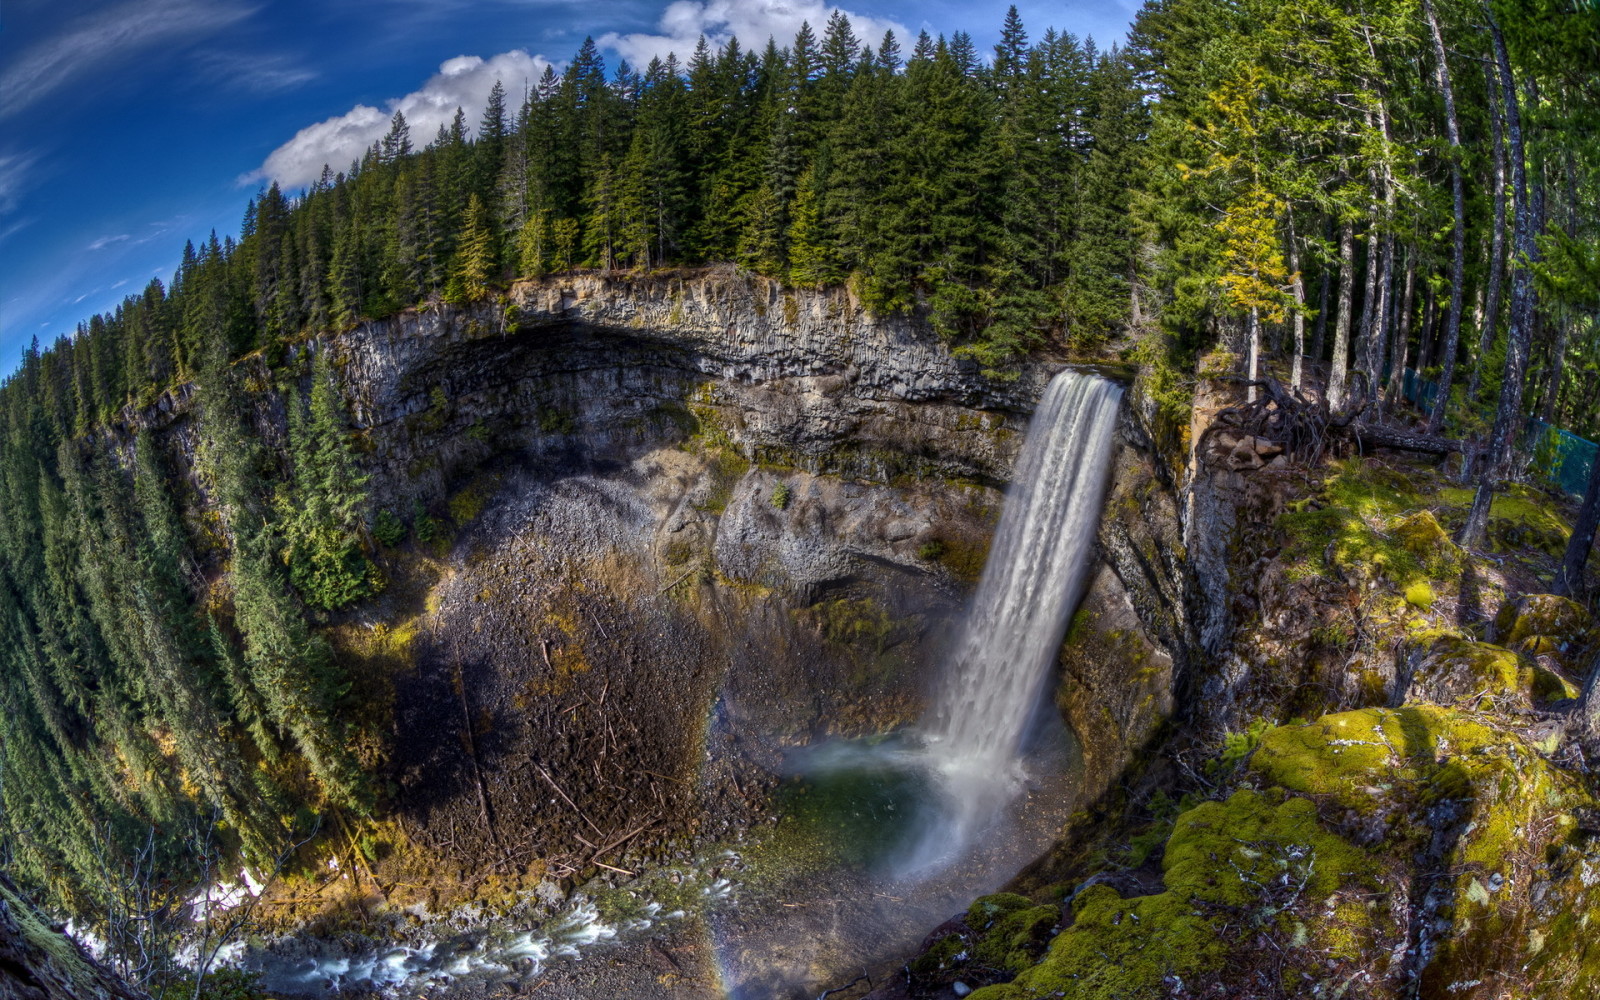
[[[1478,491],[1472,498],[1472,510],[1461,526],[1461,544],[1483,544],[1488,526],[1490,502],[1494,498],[1494,480],[1504,477],[1512,462],[1517,430],[1522,419],[1523,378],[1528,368],[1528,349],[1533,338],[1533,270],[1539,248],[1533,242],[1533,205],[1528,197],[1528,157],[1522,141],[1522,109],[1517,99],[1517,82],[1512,77],[1510,58],[1506,54],[1506,35],[1488,3],[1483,14],[1490,24],[1490,42],[1494,48],[1494,64],[1499,70],[1501,96],[1504,99],[1506,138],[1510,141],[1512,189],[1517,197],[1515,230],[1517,269],[1510,275],[1510,328],[1506,336],[1506,378],[1501,382],[1499,403],[1494,408],[1494,430],[1490,434],[1490,454],[1478,478]]]

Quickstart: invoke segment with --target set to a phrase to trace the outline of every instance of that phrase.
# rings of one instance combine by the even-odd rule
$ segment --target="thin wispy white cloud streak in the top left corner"
[[[0,118],[22,110],[80,74],[155,43],[194,38],[248,18],[254,8],[218,0],[133,0],[85,14],[46,38],[0,75]]]

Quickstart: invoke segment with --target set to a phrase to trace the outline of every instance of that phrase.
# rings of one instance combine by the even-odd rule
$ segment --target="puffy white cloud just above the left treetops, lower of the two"
[[[475,128],[496,80],[506,86],[507,110],[515,114],[523,85],[533,86],[546,66],[550,66],[549,59],[530,56],[520,48],[490,59],[446,59],[421,90],[389,101],[382,110],[357,104],[342,115],[307,125],[272,150],[258,170],[242,176],[240,182],[277,181],[283,187],[302,187],[322,176],[325,163],[333,170],[344,170],[389,131],[389,120],[397,110],[405,112],[411,142],[418,149],[434,139],[440,125],[450,125],[456,107],[466,112],[467,123]]]

